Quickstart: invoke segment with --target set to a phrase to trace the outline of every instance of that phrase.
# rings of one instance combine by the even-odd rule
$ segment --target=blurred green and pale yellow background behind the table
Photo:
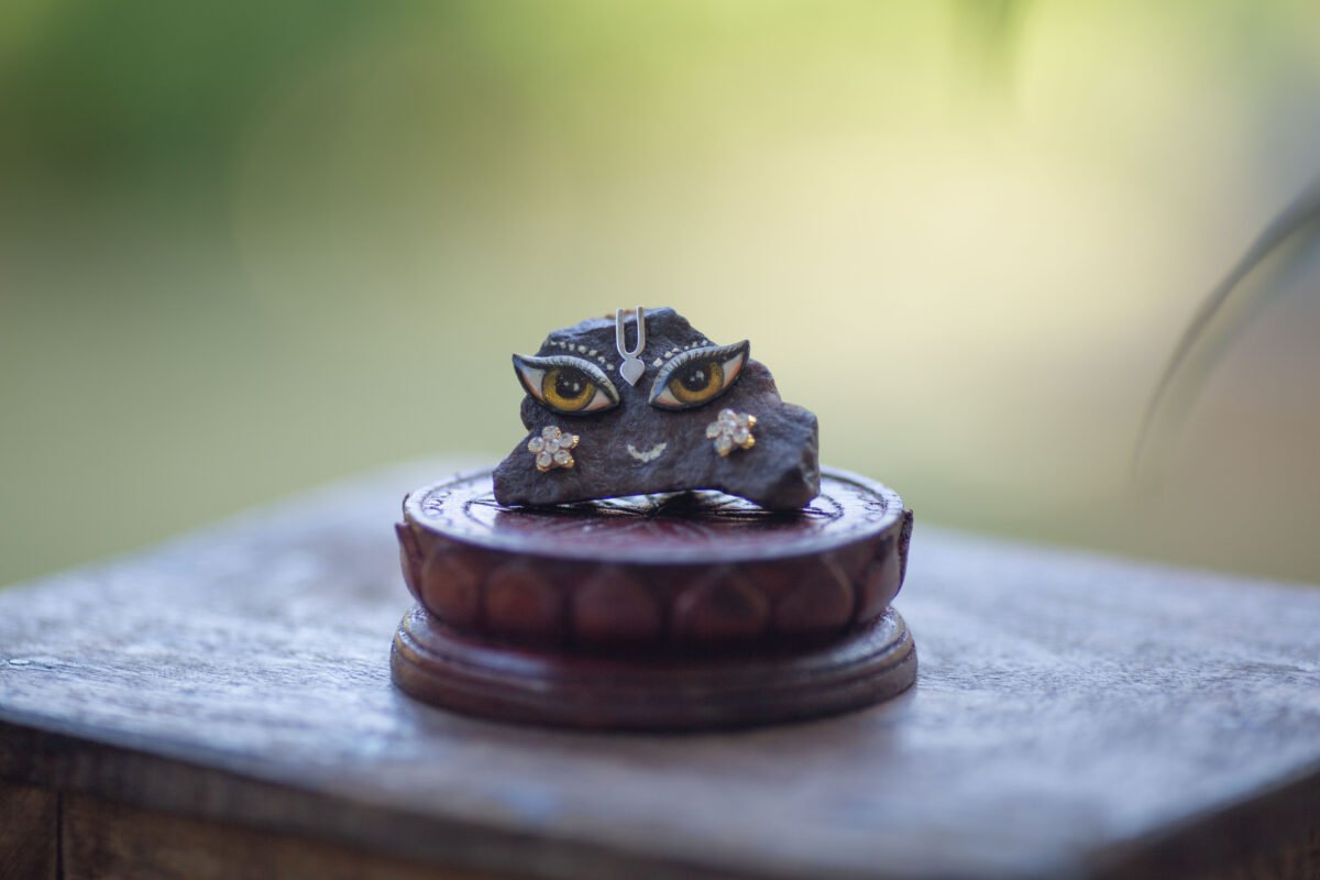
[[[1127,470],[1317,145],[1309,0],[7,0],[0,583],[495,460],[508,354],[638,302],[921,522],[1320,581],[1316,272]]]

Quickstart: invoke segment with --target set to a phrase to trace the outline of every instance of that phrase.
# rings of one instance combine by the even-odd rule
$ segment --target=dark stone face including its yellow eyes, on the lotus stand
[[[698,348],[717,352],[690,354]],[[623,359],[612,318],[557,330],[536,356],[515,358],[528,392],[521,409],[528,435],[495,470],[500,504],[718,489],[787,511],[816,497],[816,416],[779,397],[770,371],[751,359],[746,343],[715,346],[682,315],[657,309],[647,311],[647,347],[639,358],[645,369],[630,385],[619,376]],[[721,422],[723,410],[734,417]],[[539,470],[531,446],[557,431],[577,438],[573,464]]]

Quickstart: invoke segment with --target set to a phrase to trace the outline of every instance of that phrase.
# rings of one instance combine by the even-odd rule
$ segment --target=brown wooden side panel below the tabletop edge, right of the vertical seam
[[[494,880],[333,843],[71,796],[61,880]],[[0,873],[9,880],[11,875]],[[507,876],[507,875],[506,875]]]

